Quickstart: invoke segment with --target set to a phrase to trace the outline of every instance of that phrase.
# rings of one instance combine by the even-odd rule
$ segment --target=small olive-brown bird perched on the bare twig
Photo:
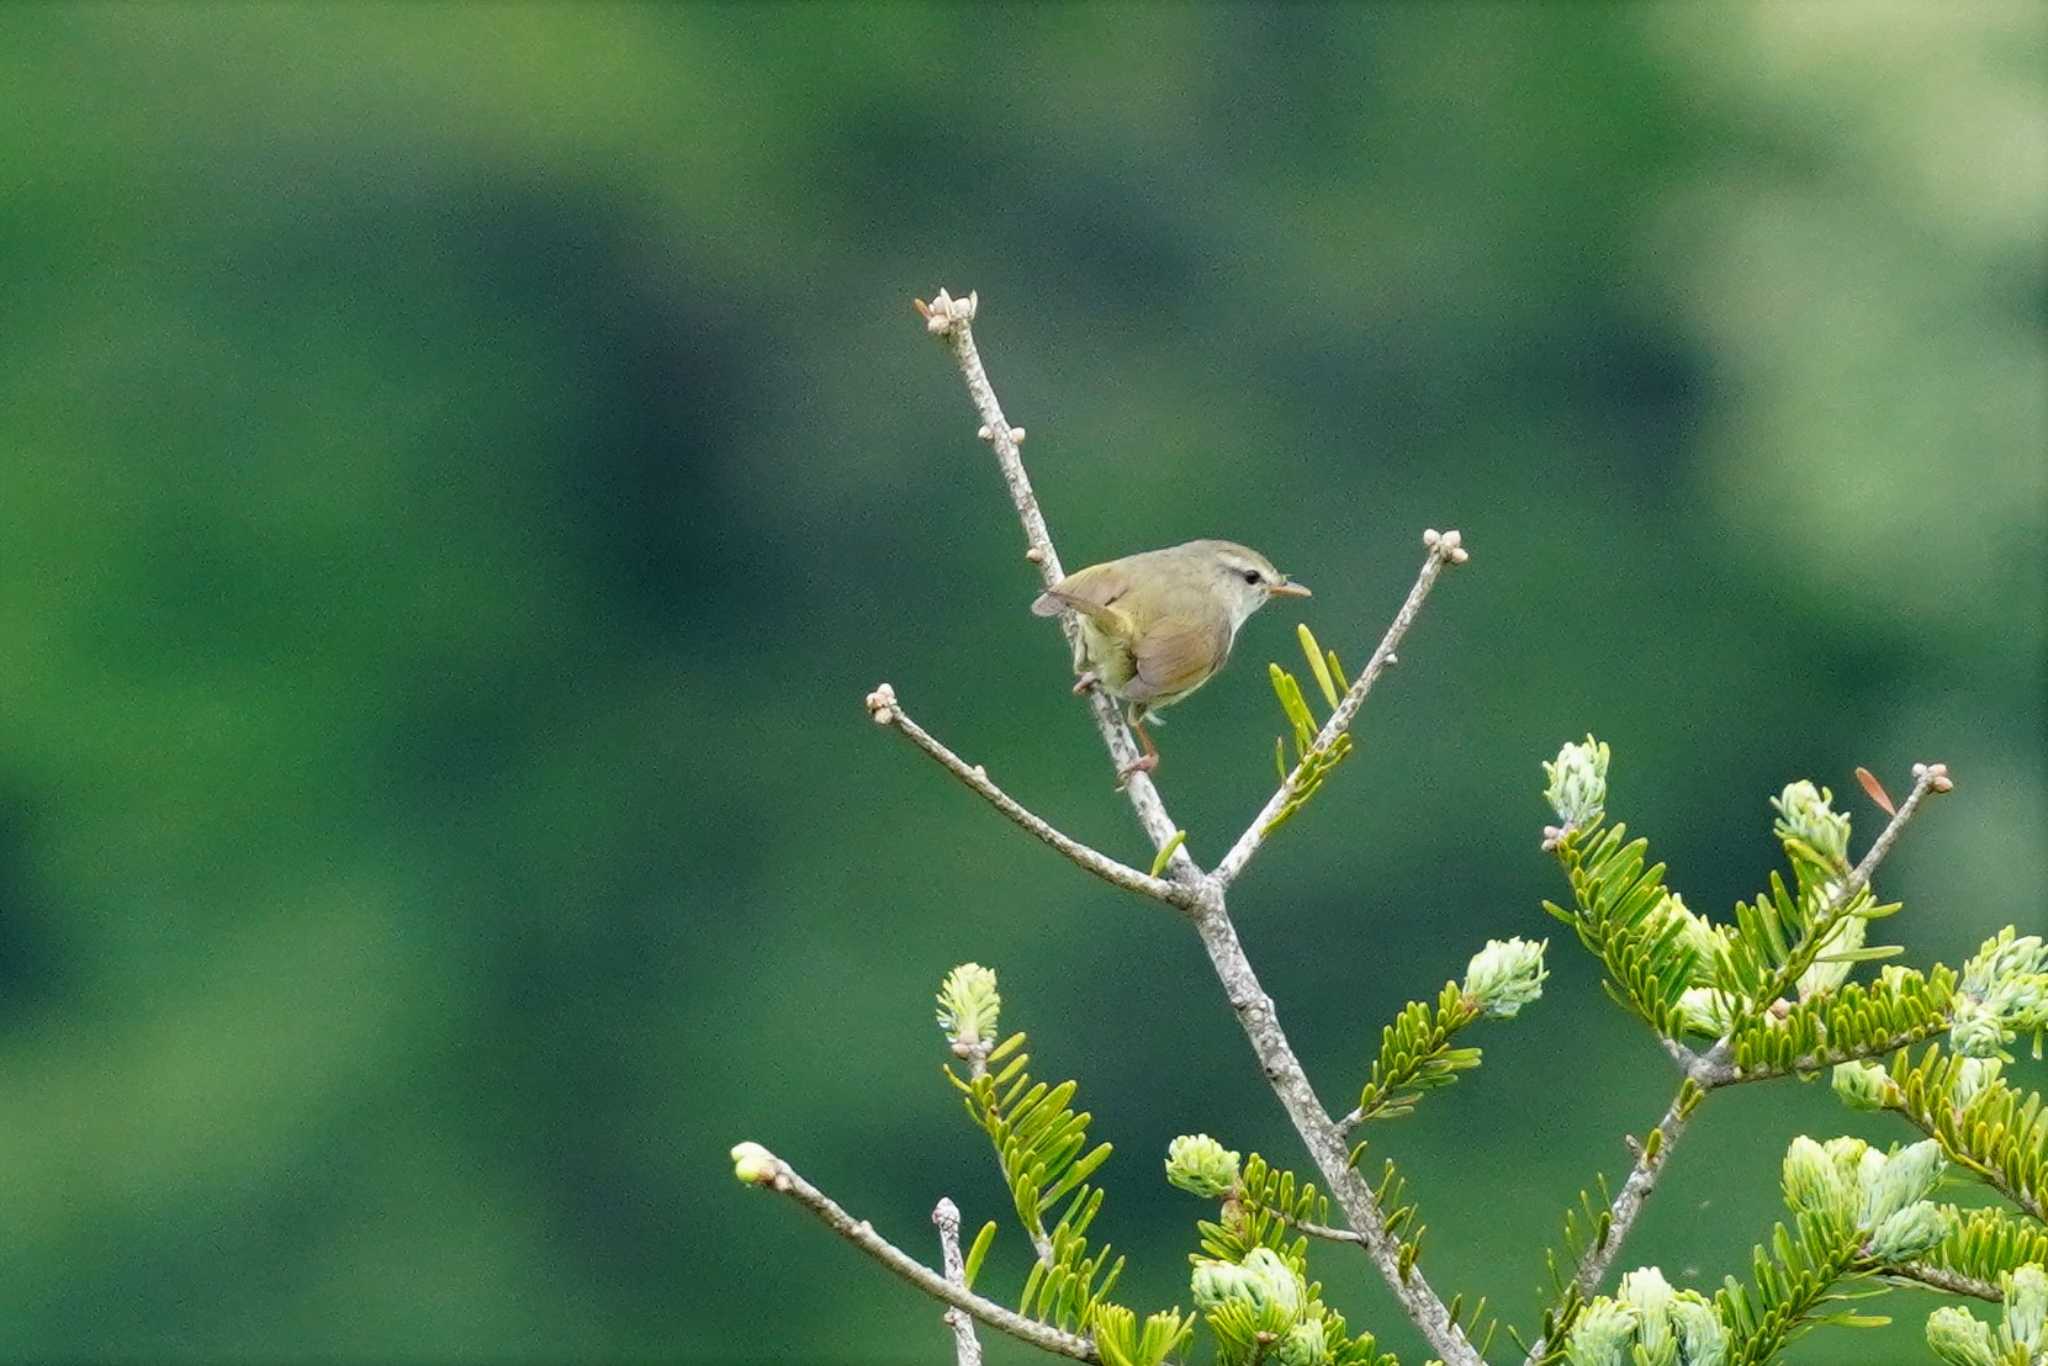
[[[1237,629],[1274,596],[1307,598],[1309,590],[1251,547],[1188,541],[1077,569],[1038,594],[1030,610],[1079,616],[1073,668],[1081,678],[1073,690],[1102,684],[1130,705],[1126,719],[1145,756],[1124,768],[1128,778],[1159,766],[1145,721],[1214,678]]]

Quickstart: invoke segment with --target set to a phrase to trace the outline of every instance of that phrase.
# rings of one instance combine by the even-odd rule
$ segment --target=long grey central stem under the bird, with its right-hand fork
[[[1010,500],[1016,504],[1018,518],[1024,524],[1024,539],[1030,543],[1030,559],[1038,563],[1047,586],[1053,586],[1063,578],[1059,555],[1053,551],[1053,539],[1044,528],[1044,516],[1038,512],[1038,502],[1030,492],[1030,479],[1024,475],[1024,463],[1018,457],[1016,446],[1018,432],[1010,428],[1001,405],[995,401],[995,391],[989,387],[987,371],[981,367],[981,354],[975,350],[973,332],[969,328],[975,317],[977,303],[975,295],[969,295],[967,299],[952,299],[942,291],[930,305],[920,303],[918,309],[924,313],[926,326],[934,334],[946,338],[954,358],[961,362],[961,375],[967,379],[967,391],[983,420],[983,440],[995,449],[995,459],[1004,471],[1004,483],[1010,485]],[[1423,578],[1417,580],[1415,590],[1409,592],[1409,602],[1401,608],[1401,616],[1395,618],[1395,627],[1389,631],[1386,641],[1380,643],[1378,653],[1374,653],[1368,674],[1360,676],[1360,682],[1352,686],[1352,692],[1346,694],[1343,705],[1339,705],[1341,725],[1350,725],[1352,715],[1358,713],[1358,705],[1364,700],[1370,678],[1376,678],[1378,672],[1386,668],[1386,657],[1393,653],[1395,643],[1399,643],[1401,633],[1407,631],[1407,625],[1415,618],[1415,610],[1421,606],[1421,598],[1427,594],[1430,584],[1436,582],[1438,571],[1442,571],[1444,561],[1456,561],[1464,555],[1464,551],[1458,549],[1456,537],[1450,535],[1438,537],[1430,549],[1432,559],[1423,567]],[[1065,629],[1071,641],[1077,627],[1069,621],[1065,623]],[[1102,731],[1102,741],[1108,745],[1110,758],[1118,768],[1128,766],[1130,760],[1137,758],[1137,748],[1133,745],[1122,719],[1116,715],[1114,702],[1110,702],[1110,698],[1096,688],[1092,690],[1092,705],[1096,729]],[[1337,717],[1331,719],[1331,725],[1337,725]],[[1329,727],[1325,727],[1325,731],[1329,731]],[[1329,735],[1335,733],[1337,731],[1329,731]],[[1151,836],[1153,848],[1165,848],[1178,834],[1178,827],[1167,817],[1157,788],[1143,772],[1135,772],[1130,774],[1130,782],[1124,793],[1130,797],[1130,807],[1137,811],[1139,823],[1145,825],[1145,834]],[[1253,825],[1253,831],[1255,829],[1257,825]],[[1243,844],[1243,840],[1239,844]],[[1255,848],[1257,838],[1253,838],[1249,848],[1239,856],[1239,870],[1243,868],[1243,860],[1249,858]],[[1409,1266],[1403,1276],[1401,1241],[1386,1231],[1386,1221],[1378,1208],[1378,1200],[1372,1198],[1372,1188],[1352,1167],[1343,1135],[1337,1133],[1337,1124],[1329,1118],[1323,1102],[1315,1098],[1315,1090],[1309,1085],[1309,1075],[1303,1071],[1300,1059],[1294,1057],[1292,1044],[1288,1044],[1286,1034],[1280,1030],[1280,1022],[1274,1018],[1272,997],[1260,987],[1260,979],[1251,971],[1251,961],[1245,956],[1243,944],[1237,942],[1237,928],[1231,924],[1229,909],[1225,907],[1225,887],[1229,885],[1229,879],[1204,877],[1196,862],[1188,856],[1186,848],[1174,850],[1167,870],[1176,881],[1186,883],[1198,893],[1192,907],[1194,926],[1202,936],[1202,948],[1208,950],[1210,965],[1217,969],[1217,979],[1223,983],[1225,997],[1231,1001],[1231,1010],[1237,1014],[1237,1022],[1243,1026],[1245,1038],[1251,1040],[1251,1051],[1260,1061],[1260,1069],[1266,1073],[1266,1081],[1272,1085],[1274,1096],[1280,1100],[1280,1106],[1294,1122],[1294,1130],[1300,1135],[1303,1145],[1307,1145],[1309,1155],[1315,1159],[1325,1188],[1343,1210],[1346,1221],[1358,1229],[1360,1245],[1386,1278],[1389,1288],[1393,1288],[1409,1319],[1413,1319],[1423,1337],[1430,1339],[1430,1346],[1448,1366],[1485,1366],[1473,1343],[1466,1341],[1458,1325],[1450,1321],[1450,1311],[1430,1288],[1421,1270]]]

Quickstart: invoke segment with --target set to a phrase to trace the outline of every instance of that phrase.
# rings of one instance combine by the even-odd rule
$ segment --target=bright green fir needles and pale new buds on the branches
[[[1311,676],[1335,709],[1341,666],[1307,629],[1300,637]],[[1300,684],[1278,664],[1272,680],[1298,758],[1292,772],[1280,774],[1282,805],[1266,829],[1292,817],[1350,752],[1341,731],[1317,745]],[[1868,885],[1882,848],[1851,866],[1851,823],[1833,809],[1827,788],[1794,782],[1772,799],[1790,874],[1772,870],[1763,893],[1739,901],[1733,917],[1716,924],[1665,885],[1665,864],[1651,860],[1645,838],[1608,821],[1610,762],[1608,745],[1587,735],[1544,764],[1546,797],[1563,821],[1544,831],[1544,846],[1571,889],[1569,905],[1544,901],[1544,911],[1593,954],[1608,995],[1651,1028],[1681,1077],[1667,1116],[1636,1145],[1620,1196],[1597,1176],[1597,1198],[1581,1190],[1567,1212],[1563,1241],[1546,1257],[1552,1298],[1538,1343],[1532,1348],[1513,1329],[1509,1339],[1532,1362],[1751,1366],[1778,1360],[1815,1327],[1888,1323],[1858,1303],[1917,1284],[1978,1298],[1997,1292],[2005,1303],[1997,1331],[1958,1309],[1935,1313],[1927,1321],[1935,1356],[1962,1366],[2036,1366],[2040,1319],[2048,1315],[2048,1229],[2040,1219],[2048,1114],[2040,1096],[2021,1094],[2001,1071],[2009,1042],[2048,1026],[2048,946],[2005,930],[1960,973],[1892,965],[1851,981],[1862,965],[1898,952],[1870,944],[1868,928],[1901,905],[1880,903]],[[1946,774],[1921,770],[1913,801],[1935,780],[1946,782]],[[1894,821],[1903,819],[1894,813]],[[1155,874],[1182,838],[1174,834]],[[1479,1067],[1481,1051],[1458,1042],[1460,1034],[1483,1018],[1513,1018],[1542,995],[1544,948],[1491,940],[1473,956],[1464,981],[1444,983],[1434,1001],[1403,1006],[1380,1030],[1358,1106],[1337,1120],[1339,1130],[1411,1114],[1425,1092]],[[1376,1229],[1356,1231],[1331,1227],[1331,1200],[1262,1155],[1239,1159],[1208,1135],[1176,1139],[1165,1157],[1167,1182],[1217,1202],[1217,1212],[1196,1221],[1194,1313],[1171,1309],[1141,1321],[1110,1300],[1124,1260],[1090,1241],[1102,1208],[1092,1178],[1112,1149],[1092,1145],[1090,1114],[1073,1108],[1077,1085],[1034,1081],[1024,1034],[997,1042],[1001,999],[991,971],[963,965],[938,1001],[940,1026],[965,1061],[965,1073],[946,1067],[946,1075],[987,1135],[1018,1223],[1038,1251],[1020,1313],[1085,1335],[1061,1350],[1085,1350],[1108,1366],[1159,1366],[1190,1346],[1200,1323],[1219,1366],[1395,1366],[1370,1333],[1350,1331],[1309,1274],[1311,1243],[1329,1239],[1370,1243],[1397,1290],[1417,1278],[1427,1225],[1393,1161],[1364,1192],[1346,1196],[1348,1206],[1370,1196],[1378,1210]],[[1946,1044],[1927,1042],[1944,1032]],[[1907,1051],[1921,1042],[1927,1047],[1911,1057]],[[1886,1057],[1888,1067],[1870,1061]],[[1636,1268],[1612,1294],[1595,1292],[1671,1145],[1710,1092],[1810,1077],[1825,1067],[1835,1069],[1835,1090],[1849,1106],[1896,1112],[1929,1137],[1892,1151],[1853,1137],[1798,1137],[1784,1161],[1788,1219],[1753,1249],[1745,1280],[1729,1276],[1708,1298],[1673,1288],[1657,1268]],[[735,1171],[772,1182],[778,1159],[750,1147],[735,1149]],[[1366,1151],[1364,1141],[1356,1143],[1350,1167]],[[2003,1192],[2019,1212],[1935,1202],[1931,1194],[1950,1163]],[[1337,1180],[1329,1167],[1325,1176]],[[993,1235],[991,1223],[975,1237],[965,1262],[969,1284]],[[1464,1333],[1438,1341],[1470,1341],[1483,1360],[1499,1323],[1487,1317],[1483,1298],[1468,1315],[1464,1305],[1458,1294],[1438,1300]]]

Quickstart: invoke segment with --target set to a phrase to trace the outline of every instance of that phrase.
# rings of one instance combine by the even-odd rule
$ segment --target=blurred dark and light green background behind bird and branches
[[[1120,1149],[1124,1298],[1186,1303],[1167,1139],[1300,1163],[1192,934],[860,709],[1145,860],[940,285],[1069,563],[1223,535],[1317,590],[1163,731],[1202,860],[1292,623],[1356,664],[1464,528],[1235,897],[1333,1108],[1556,928],[1538,760],[1587,729],[1696,909],[1790,778],[1868,840],[1851,768],[1942,758],[1890,926],[2038,930],[2044,70],[2025,0],[0,10],[0,1356],[942,1360],[725,1151],[932,1257],[940,1194],[999,1214],[938,1077],[963,958]],[[1524,1325],[1671,1085],[1552,967],[1378,1141],[1438,1284]],[[1907,1137],[1716,1098],[1624,1264],[1739,1270],[1800,1130]]]

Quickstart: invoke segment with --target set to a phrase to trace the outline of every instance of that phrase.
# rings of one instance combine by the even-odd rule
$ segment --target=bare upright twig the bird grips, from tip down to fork
[[[918,301],[918,311],[924,315],[926,328],[946,338],[952,358],[961,365],[961,377],[967,381],[967,397],[973,399],[975,412],[981,414],[981,438],[995,451],[995,463],[1010,489],[1010,502],[1024,524],[1024,557],[1038,565],[1038,578],[1051,588],[1067,578],[1067,571],[1059,563],[1059,551],[1053,549],[1053,532],[1044,526],[1038,496],[1032,494],[1030,477],[1024,473],[1024,459],[1018,455],[1024,428],[1014,428],[1004,418],[1004,408],[995,401],[995,387],[989,385],[989,373],[981,369],[981,352],[975,350],[973,332],[977,307],[977,295],[969,293],[965,299],[952,299],[944,289],[938,291],[932,303]],[[1067,645],[1073,645],[1079,625],[1075,625],[1071,612],[1061,614],[1061,631],[1067,633]],[[1116,702],[1102,688],[1090,688],[1087,707],[1096,717],[1102,743],[1110,752],[1110,762],[1118,772],[1126,772],[1139,758],[1139,745],[1130,739],[1130,731],[1124,729],[1124,719],[1118,715]],[[1159,788],[1153,786],[1145,772],[1130,772],[1124,782],[1124,795],[1130,799],[1130,809],[1137,811],[1139,825],[1145,827],[1153,848],[1163,850],[1178,827],[1167,817],[1165,803],[1159,801]],[[1194,866],[1194,858],[1188,856],[1186,848],[1174,850],[1174,856],[1167,860],[1167,872],[1176,881],[1190,885],[1202,877],[1202,870]]]

